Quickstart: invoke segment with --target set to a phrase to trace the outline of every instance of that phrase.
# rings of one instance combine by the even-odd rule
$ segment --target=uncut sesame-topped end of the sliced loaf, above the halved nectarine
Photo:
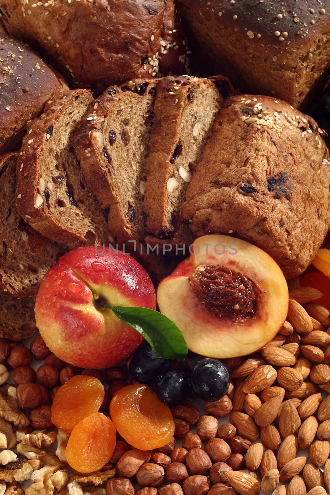
[[[283,101],[228,99],[183,204],[191,231],[244,239],[268,252],[286,278],[302,273],[330,226],[330,157],[322,134]]]

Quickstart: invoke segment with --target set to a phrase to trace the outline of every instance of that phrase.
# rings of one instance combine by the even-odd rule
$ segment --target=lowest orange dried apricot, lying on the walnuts
[[[110,418],[93,412],[72,430],[65,449],[69,466],[91,473],[109,462],[116,446],[116,429]]]

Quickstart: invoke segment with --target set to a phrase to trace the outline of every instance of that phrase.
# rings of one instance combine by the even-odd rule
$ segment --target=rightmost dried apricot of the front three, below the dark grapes
[[[146,385],[120,389],[110,402],[110,415],[119,435],[141,450],[162,447],[174,434],[170,409]]]

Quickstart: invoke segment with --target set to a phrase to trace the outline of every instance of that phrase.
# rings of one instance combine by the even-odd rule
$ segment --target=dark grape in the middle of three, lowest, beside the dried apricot
[[[181,370],[164,371],[157,378],[156,393],[166,405],[182,403],[190,393],[189,376]]]

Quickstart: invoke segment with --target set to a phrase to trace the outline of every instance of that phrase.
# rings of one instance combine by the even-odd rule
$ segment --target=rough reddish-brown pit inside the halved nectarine
[[[189,283],[201,304],[216,316],[240,321],[256,311],[256,287],[242,273],[220,265],[199,265]]]

